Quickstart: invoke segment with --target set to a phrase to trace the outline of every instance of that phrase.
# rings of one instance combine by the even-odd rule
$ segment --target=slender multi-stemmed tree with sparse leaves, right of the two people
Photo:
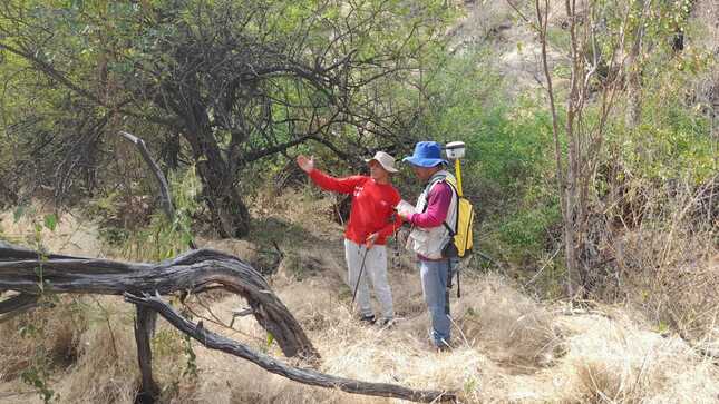
[[[536,30],[542,48],[571,297],[585,295],[595,284],[601,265],[596,239],[600,226],[593,220],[601,216],[596,211],[608,211],[615,203],[597,204],[597,171],[608,136],[616,121],[625,121],[629,129],[641,122],[641,72],[659,65],[664,70],[668,52],[681,50],[674,39],[684,28],[690,6],[689,0],[567,0],[563,3],[566,41],[562,50],[569,66],[552,66],[548,58],[548,49],[554,46],[548,36],[552,3],[535,0],[533,21],[516,8]],[[657,59],[647,53],[648,48]],[[567,88],[557,89],[556,79],[565,72]],[[619,119],[618,106],[624,100],[626,114]],[[644,131],[641,136],[651,135],[647,128],[639,130]]]

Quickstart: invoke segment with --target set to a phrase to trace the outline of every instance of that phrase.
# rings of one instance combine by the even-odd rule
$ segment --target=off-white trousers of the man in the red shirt
[[[365,254],[367,254],[367,257],[365,257]],[[367,282],[369,278],[375,289],[375,296],[379,300],[382,317],[391,319],[395,316],[395,309],[392,308],[392,290],[387,280],[387,247],[376,245],[367,249],[363,245],[360,246],[354,242],[344,239],[344,260],[347,262],[349,286],[352,293],[354,293],[354,285],[357,285],[362,259],[365,259],[365,269],[357,290],[357,304],[360,314],[372,315],[369,284]]]

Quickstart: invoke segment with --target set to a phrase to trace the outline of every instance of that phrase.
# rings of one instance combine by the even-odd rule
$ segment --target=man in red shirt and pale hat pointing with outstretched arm
[[[314,184],[322,189],[341,194],[352,194],[350,219],[344,230],[344,259],[351,288],[358,285],[357,302],[360,319],[375,323],[369,297],[367,278],[372,282],[377,299],[380,303],[380,325],[389,325],[395,316],[392,293],[387,280],[387,237],[401,225],[401,219],[393,215],[393,207],[400,201],[397,189],[391,185],[390,173],[397,173],[395,158],[378,151],[366,160],[370,176],[331,177],[314,168],[314,160],[298,156],[300,168],[309,174]],[[362,270],[362,262],[365,264]]]

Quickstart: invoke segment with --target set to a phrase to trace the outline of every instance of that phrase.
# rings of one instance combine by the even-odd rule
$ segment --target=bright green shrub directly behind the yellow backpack
[[[418,131],[467,145],[463,188],[477,208],[475,248],[514,266],[538,257],[560,220],[552,124],[540,98],[506,97],[492,60],[483,49],[448,58]]]

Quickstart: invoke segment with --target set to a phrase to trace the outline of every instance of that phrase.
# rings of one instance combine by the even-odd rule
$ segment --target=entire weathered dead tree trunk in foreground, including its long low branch
[[[39,273],[41,269],[41,273]],[[42,289],[40,289],[40,278]],[[159,313],[181,332],[203,345],[252,361],[259,366],[305,384],[339,388],[349,393],[435,402],[454,401],[454,393],[415,391],[385,383],[367,383],[327,375],[311,369],[288,366],[270,356],[197,326],[165,304],[159,295],[202,293],[218,286],[244,297],[255,319],[274,337],[285,356],[319,361],[300,324],[272,293],[264,278],[241,259],[198,249],[158,264],[120,263],[61,255],[39,256],[38,253],[0,242],[0,293],[14,295],[0,300],[0,322],[20,311],[33,307],[41,294],[125,295],[138,307],[136,338],[140,364],[150,364],[149,313]],[[139,296],[139,297],[138,297]],[[154,297],[148,297],[154,296]],[[143,369],[145,393],[153,392],[152,369]],[[138,397],[142,398],[142,397]]]

